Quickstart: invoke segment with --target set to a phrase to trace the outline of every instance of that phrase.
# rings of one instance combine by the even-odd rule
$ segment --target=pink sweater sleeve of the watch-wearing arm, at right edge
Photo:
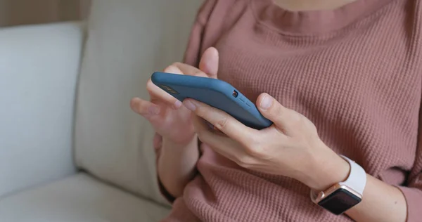
[[[407,202],[407,221],[422,220],[422,124],[419,125],[418,149],[413,169],[409,174],[407,185],[400,186]]]

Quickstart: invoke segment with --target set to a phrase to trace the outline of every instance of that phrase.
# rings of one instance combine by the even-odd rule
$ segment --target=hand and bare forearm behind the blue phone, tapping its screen
[[[208,48],[203,53],[199,69],[174,63],[164,72],[216,78],[218,62],[217,50]],[[157,171],[162,187],[170,196],[180,197],[186,184],[196,175],[199,158],[198,139],[190,118],[191,112],[179,100],[155,86],[151,79],[146,88],[151,100],[134,98],[131,107],[148,119],[155,129],[153,145],[160,150]]]

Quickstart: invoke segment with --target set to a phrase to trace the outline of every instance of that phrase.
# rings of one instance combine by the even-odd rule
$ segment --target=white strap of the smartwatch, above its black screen
[[[351,159],[340,155],[350,164],[350,174],[347,177],[346,181],[340,183],[340,185],[347,185],[347,187],[352,188],[354,191],[358,192],[360,195],[364,194],[364,189],[366,185],[366,172],[359,166],[356,162]]]

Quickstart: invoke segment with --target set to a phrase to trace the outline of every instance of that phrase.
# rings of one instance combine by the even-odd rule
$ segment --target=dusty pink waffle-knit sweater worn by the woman
[[[311,119],[331,149],[401,188],[408,221],[422,221],[421,4],[357,0],[290,12],[271,0],[208,0],[185,62],[198,65],[215,46],[219,79]],[[242,169],[212,150],[197,168],[164,221],[351,221],[313,204],[302,183]]]

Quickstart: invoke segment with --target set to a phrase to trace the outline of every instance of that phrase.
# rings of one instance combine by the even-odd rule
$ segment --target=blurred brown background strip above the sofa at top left
[[[87,18],[91,0],[0,0],[0,27]]]

